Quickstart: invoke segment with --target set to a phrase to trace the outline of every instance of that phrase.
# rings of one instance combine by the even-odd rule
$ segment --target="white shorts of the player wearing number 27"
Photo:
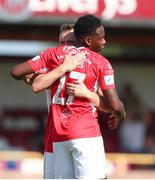
[[[53,143],[54,178],[106,178],[102,137]]]

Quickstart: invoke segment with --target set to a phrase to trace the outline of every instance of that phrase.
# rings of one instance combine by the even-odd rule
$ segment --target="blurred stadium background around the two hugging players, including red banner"
[[[102,54],[127,110],[114,131],[99,112],[109,177],[155,179],[154,9],[154,0],[0,0],[0,178],[42,178],[43,169],[46,96],[10,69],[56,46],[62,23],[91,13],[103,20]]]

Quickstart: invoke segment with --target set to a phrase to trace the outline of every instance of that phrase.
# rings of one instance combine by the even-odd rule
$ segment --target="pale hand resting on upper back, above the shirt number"
[[[74,70],[80,64],[86,60],[86,55],[84,52],[73,55],[72,53],[68,54],[65,57],[63,65],[67,72]]]

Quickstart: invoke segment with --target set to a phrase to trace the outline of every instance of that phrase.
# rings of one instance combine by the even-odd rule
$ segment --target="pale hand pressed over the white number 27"
[[[82,81],[66,84],[66,91],[69,95],[76,97],[87,97],[88,89]]]

